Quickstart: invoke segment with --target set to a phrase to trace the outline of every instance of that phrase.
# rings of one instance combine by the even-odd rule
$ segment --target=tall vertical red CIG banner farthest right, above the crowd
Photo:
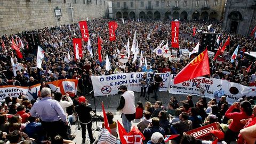
[[[172,47],[179,48],[179,21],[172,21]]]

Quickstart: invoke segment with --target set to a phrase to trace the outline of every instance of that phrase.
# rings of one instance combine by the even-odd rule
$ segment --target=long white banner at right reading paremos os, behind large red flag
[[[204,96],[209,98],[220,99],[226,96],[229,104],[234,103],[242,96],[256,96],[256,87],[246,87],[239,83],[229,82],[220,79],[208,79],[197,77],[178,84],[173,83],[174,74],[170,75],[171,94],[191,94],[201,95],[202,87],[204,87]]]

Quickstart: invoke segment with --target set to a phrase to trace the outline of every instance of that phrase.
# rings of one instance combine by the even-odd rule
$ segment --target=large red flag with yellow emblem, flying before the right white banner
[[[207,47],[204,52],[194,58],[174,78],[174,84],[187,81],[202,75],[210,74]]]

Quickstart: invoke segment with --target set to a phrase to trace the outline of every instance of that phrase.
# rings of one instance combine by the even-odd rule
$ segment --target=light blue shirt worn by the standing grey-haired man
[[[53,100],[51,97],[44,97],[36,101],[30,110],[30,114],[41,118],[43,122],[57,122],[59,120],[67,122],[66,114],[62,107],[57,100]]]

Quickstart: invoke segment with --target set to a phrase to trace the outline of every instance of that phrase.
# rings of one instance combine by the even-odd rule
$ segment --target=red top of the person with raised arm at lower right
[[[228,111],[226,112],[225,116],[228,118],[233,119],[233,121],[230,123],[230,125],[228,126],[228,128],[234,132],[239,132],[241,129],[244,128],[244,124],[242,124],[240,122],[240,120],[243,119],[248,119],[252,116],[248,116],[245,112],[235,112],[235,113],[231,113],[233,111],[233,109],[236,108],[235,106],[230,106],[228,108]]]

